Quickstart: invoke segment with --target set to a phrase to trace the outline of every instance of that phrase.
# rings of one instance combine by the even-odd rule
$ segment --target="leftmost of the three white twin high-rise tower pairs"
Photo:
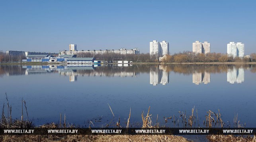
[[[165,40],[162,42],[156,40],[149,42],[149,53],[150,55],[157,55],[158,57],[169,54],[169,42],[166,42]]]

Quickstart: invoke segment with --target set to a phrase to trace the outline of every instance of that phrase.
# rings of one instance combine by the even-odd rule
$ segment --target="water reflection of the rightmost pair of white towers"
[[[227,82],[231,84],[244,82],[244,67],[241,66],[237,69],[236,66],[233,66],[228,68]]]

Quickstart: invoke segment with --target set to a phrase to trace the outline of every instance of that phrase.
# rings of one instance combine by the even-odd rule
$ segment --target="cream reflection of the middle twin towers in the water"
[[[208,84],[211,82],[211,73],[205,71],[193,70],[193,83],[199,85],[200,83]]]

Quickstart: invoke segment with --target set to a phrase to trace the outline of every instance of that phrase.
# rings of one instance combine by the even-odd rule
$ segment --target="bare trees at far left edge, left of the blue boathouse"
[[[16,63],[16,62],[21,62],[22,59],[26,59],[26,56],[9,55],[4,52],[0,52],[0,63]]]

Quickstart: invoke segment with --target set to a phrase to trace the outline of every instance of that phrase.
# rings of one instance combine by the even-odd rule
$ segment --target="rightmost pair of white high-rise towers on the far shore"
[[[227,44],[227,54],[229,57],[233,58],[244,58],[244,44],[242,44],[242,42],[229,42]]]

